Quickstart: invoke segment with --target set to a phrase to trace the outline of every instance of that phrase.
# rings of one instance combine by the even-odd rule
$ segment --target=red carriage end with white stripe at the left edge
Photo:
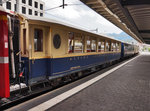
[[[10,96],[7,14],[0,11],[0,97]]]

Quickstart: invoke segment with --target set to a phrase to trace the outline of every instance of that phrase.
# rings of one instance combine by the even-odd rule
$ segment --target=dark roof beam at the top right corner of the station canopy
[[[148,5],[150,0],[121,0],[122,6],[128,5]]]

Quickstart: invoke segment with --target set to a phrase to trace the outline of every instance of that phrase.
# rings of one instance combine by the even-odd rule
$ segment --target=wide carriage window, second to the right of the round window
[[[83,53],[83,37],[75,37],[74,40],[74,52],[75,53]]]

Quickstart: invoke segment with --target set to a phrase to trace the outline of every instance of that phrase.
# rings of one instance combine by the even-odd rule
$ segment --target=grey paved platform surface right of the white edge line
[[[31,103],[36,102],[17,109],[36,107]],[[138,56],[47,111],[150,111],[150,55]]]

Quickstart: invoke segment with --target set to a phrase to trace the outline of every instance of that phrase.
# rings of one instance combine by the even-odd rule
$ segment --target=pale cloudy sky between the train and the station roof
[[[45,2],[45,17],[63,21],[66,23],[73,24],[86,30],[95,30],[98,28],[100,34],[111,36],[124,36],[125,41],[135,42],[129,35],[124,33],[121,29],[113,25],[111,22],[100,16],[92,9],[84,5],[79,0],[65,0],[66,4],[74,4],[66,6],[64,9],[54,8],[62,5],[62,0],[43,0]],[[52,9],[54,8],[54,9]]]

